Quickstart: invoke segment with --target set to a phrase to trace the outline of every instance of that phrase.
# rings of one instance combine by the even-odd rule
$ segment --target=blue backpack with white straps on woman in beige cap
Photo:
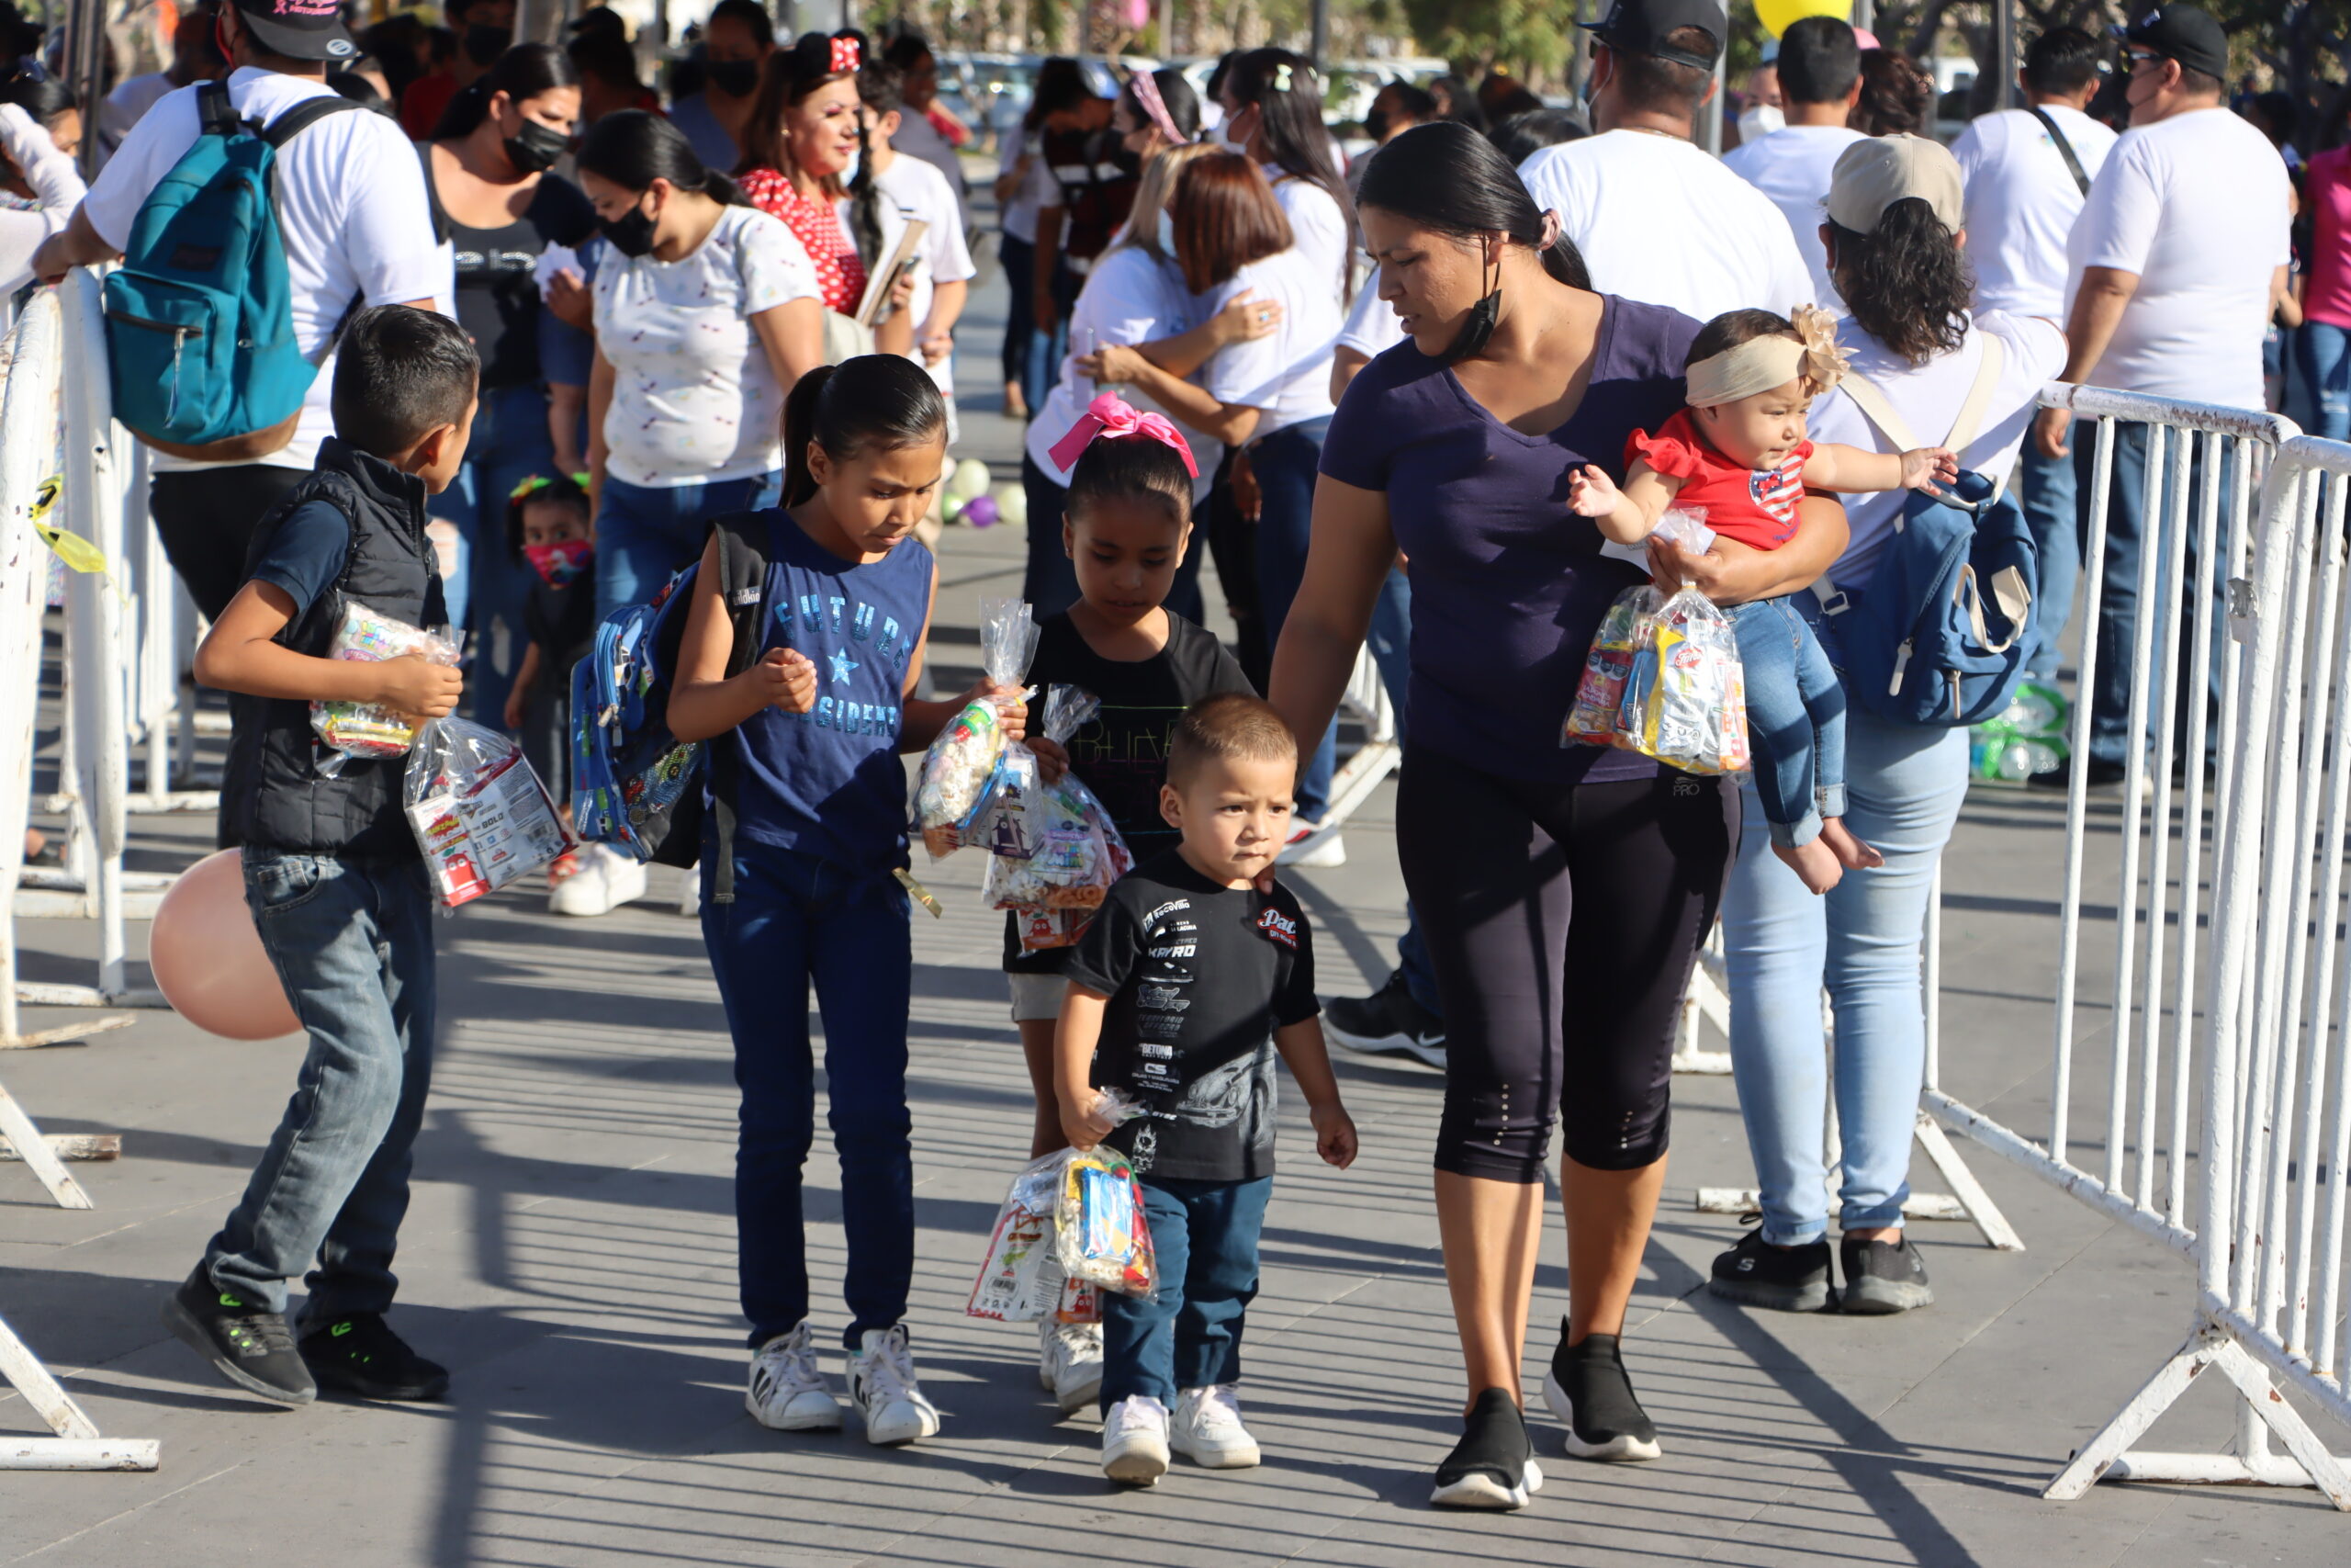
[[[2001,341],[1984,360],[1944,447],[1965,451],[2001,378]],[[1904,451],[1918,447],[1886,395],[1841,383]],[[1881,719],[1921,729],[1982,724],[2008,708],[2038,646],[2041,562],[2015,498],[1963,470],[1942,496],[1911,491],[1895,536],[1857,595],[1827,595],[1853,698]]]

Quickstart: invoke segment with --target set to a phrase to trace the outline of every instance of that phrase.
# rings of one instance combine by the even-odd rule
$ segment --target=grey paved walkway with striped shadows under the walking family
[[[987,371],[966,364],[966,451],[1011,475],[1011,430],[980,411]],[[943,684],[976,663],[973,599],[1018,585],[1020,548],[1013,529],[950,534]],[[1401,926],[1387,809],[1382,792],[1349,827],[1347,867],[1293,877],[1333,992],[1375,985]],[[2017,1126],[2045,1119],[2057,832],[2038,802],[1980,795],[1947,863],[1947,1079]],[[174,867],[209,825],[134,818],[134,865]],[[658,900],[557,922],[498,898],[440,926],[442,1063],[402,1237],[400,1324],[451,1363],[447,1406],[270,1410],[216,1385],[155,1321],[242,1187],[299,1041],[230,1044],[143,1013],[89,1048],[0,1058],[49,1131],[125,1133],[120,1164],[80,1166],[94,1213],[52,1208],[21,1166],[0,1166],[0,1314],[106,1434],[158,1436],[165,1453],[143,1476],[0,1479],[0,1563],[2189,1568],[2351,1552],[2351,1521],[2306,1490],[2114,1486],[2041,1502],[2067,1453],[2177,1345],[2193,1279],[1989,1154],[1972,1164],[2029,1251],[1921,1227],[1933,1309],[1838,1319],[1714,1302],[1707,1260],[1737,1225],[1690,1197],[1754,1180],[1728,1079],[1676,1081],[1669,1201],[1629,1326],[1665,1462],[1575,1465],[1538,1422],[1549,1486],[1533,1509],[1429,1512],[1460,1396],[1427,1194],[1439,1074],[1387,1058],[1340,1063],[1364,1131],[1357,1168],[1314,1164],[1302,1117],[1284,1131],[1246,1385],[1267,1465],[1110,1493],[1093,1420],[1056,1422],[1037,1389],[1032,1335],[962,1316],[1025,1150],[1027,1084],[978,858],[917,870],[947,907],[936,924],[917,914],[912,1074],[912,1326],[947,1413],[936,1441],[884,1453],[853,1429],[781,1436],[743,1413],[734,1086],[696,924]],[[87,926],[21,931],[28,978],[87,978]],[[809,1208],[818,1314],[837,1331],[837,1168],[823,1152]],[[1528,1387],[1563,1305],[1554,1220]],[[0,1429],[31,1425],[21,1399],[0,1399]],[[2231,1429],[2217,1392],[2196,1389],[2156,1446],[2217,1450]]]

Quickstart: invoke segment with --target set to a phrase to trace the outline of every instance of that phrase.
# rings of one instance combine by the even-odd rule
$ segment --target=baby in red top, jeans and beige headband
[[[1796,320],[1730,310],[1700,327],[1686,357],[1688,409],[1625,444],[1625,484],[1587,465],[1568,508],[1615,543],[1641,543],[1665,512],[1702,512],[1721,538],[1777,550],[1796,536],[1806,484],[1834,491],[1935,489],[1958,458],[1942,447],[1883,454],[1803,440],[1813,400],[1846,374],[1836,322],[1810,306]],[[1747,668],[1747,726],[1773,853],[1815,893],[1848,867],[1881,865],[1843,825],[1846,693],[1820,646],[1810,590],[1730,611]]]

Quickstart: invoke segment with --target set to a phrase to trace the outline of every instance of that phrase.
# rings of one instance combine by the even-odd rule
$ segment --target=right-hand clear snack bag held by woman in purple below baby
[[[1679,590],[1641,625],[1615,743],[1683,773],[1751,766],[1737,630],[1695,588]]]

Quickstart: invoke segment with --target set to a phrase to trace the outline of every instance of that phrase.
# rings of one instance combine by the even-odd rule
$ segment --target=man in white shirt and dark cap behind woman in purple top
[[[1787,315],[1813,299],[1780,209],[1690,141],[1728,35],[1714,0],[1615,0],[1592,24],[1599,134],[1519,165],[1594,289],[1700,322],[1751,306]]]

